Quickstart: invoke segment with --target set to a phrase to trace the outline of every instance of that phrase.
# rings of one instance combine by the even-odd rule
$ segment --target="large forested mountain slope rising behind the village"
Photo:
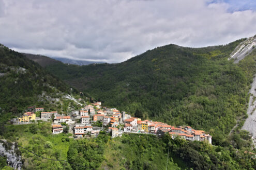
[[[223,142],[246,116],[255,59],[228,60],[242,41],[203,48],[166,45],[118,64],[52,64],[47,70],[105,106],[171,125],[191,125]]]

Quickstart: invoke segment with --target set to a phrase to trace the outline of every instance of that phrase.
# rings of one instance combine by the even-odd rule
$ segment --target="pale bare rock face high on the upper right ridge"
[[[256,46],[256,36],[250,37],[244,42],[240,43],[231,54],[230,59],[235,59],[234,63],[238,63],[240,60],[244,59]]]

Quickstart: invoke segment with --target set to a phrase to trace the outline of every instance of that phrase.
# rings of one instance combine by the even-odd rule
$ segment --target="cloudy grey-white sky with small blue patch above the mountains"
[[[0,43],[18,52],[116,63],[166,44],[256,34],[255,0],[0,0]]]

